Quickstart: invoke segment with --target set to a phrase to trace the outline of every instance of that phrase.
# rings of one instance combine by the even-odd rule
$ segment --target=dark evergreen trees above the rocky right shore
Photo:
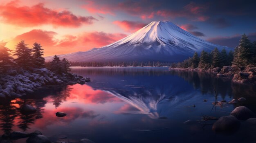
[[[256,66],[256,41],[251,43],[248,37],[243,34],[234,52],[229,51],[227,54],[225,48],[221,52],[214,48],[210,53],[202,51],[200,57],[195,52],[193,57],[189,57],[183,62],[172,63],[171,68],[200,68],[208,70],[209,68],[222,68],[223,66],[245,68],[248,65]]]

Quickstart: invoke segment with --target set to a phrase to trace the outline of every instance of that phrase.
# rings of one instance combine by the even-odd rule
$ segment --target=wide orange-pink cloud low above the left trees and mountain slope
[[[17,35],[8,43],[7,47],[14,49],[15,45],[20,42],[20,40],[25,40],[25,43],[29,44],[29,47],[31,47],[34,42],[38,42],[43,46],[45,56],[49,56],[87,51],[95,47],[99,48],[127,36],[122,33],[104,33],[97,31],[84,32],[76,36],[65,35],[62,39],[55,39],[55,35],[57,35],[57,33],[53,31],[34,29],[27,33]]]

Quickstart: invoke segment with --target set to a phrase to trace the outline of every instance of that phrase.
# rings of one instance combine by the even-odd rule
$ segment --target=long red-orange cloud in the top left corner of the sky
[[[19,6],[17,1],[0,5],[0,17],[5,23],[26,27],[43,24],[56,27],[79,27],[82,24],[92,24],[94,20],[97,20],[92,16],[76,16],[67,10],[48,9],[43,3],[31,7]]]

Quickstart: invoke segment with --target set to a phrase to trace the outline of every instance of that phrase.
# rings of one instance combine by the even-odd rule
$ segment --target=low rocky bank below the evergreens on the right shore
[[[169,68],[169,70],[191,70],[215,73],[218,78],[231,78],[235,84],[253,84],[256,85],[256,67],[248,65],[246,68],[237,68],[235,66],[216,67],[208,70],[199,68]]]

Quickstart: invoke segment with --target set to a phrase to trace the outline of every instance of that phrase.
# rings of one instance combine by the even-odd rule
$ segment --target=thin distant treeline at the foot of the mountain
[[[81,67],[162,67],[171,66],[171,62],[70,62],[71,66]]]

